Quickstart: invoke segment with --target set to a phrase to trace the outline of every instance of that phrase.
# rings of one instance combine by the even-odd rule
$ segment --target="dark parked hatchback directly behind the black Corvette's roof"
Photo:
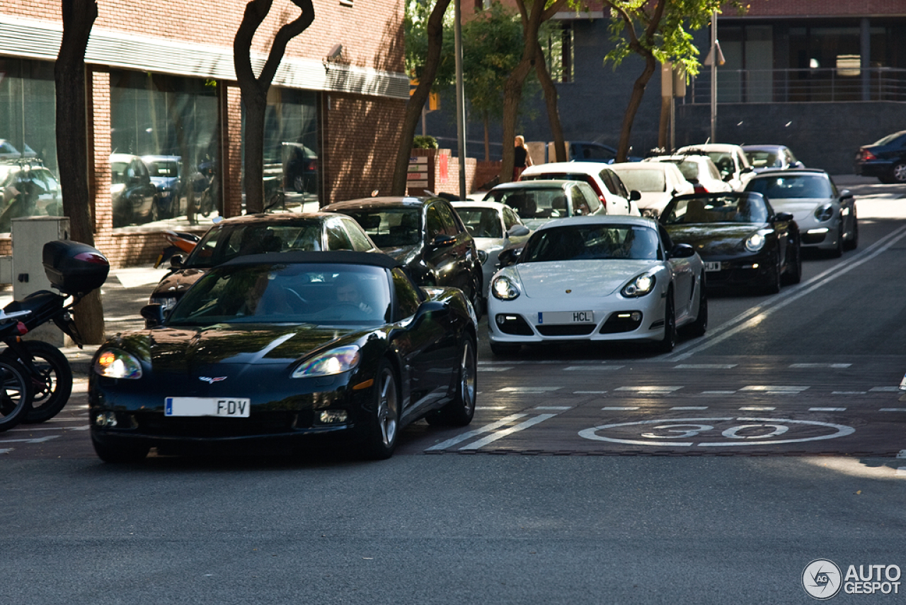
[[[322,209],[357,220],[377,246],[400,260],[419,286],[452,286],[480,312],[484,289],[475,239],[448,200],[365,198]]]

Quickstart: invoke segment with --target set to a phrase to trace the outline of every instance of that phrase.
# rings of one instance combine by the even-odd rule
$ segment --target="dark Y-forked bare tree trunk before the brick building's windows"
[[[242,93],[242,102],[246,106],[246,157],[243,161],[246,214],[263,212],[265,209],[264,149],[267,90],[271,87],[286,52],[286,44],[289,44],[295,36],[302,34],[314,21],[312,0],[292,2],[302,9],[302,15],[284,24],[277,31],[265,66],[257,77],[252,70],[252,39],[270,12],[274,0],[250,0],[242,16],[242,23],[236,30],[233,63],[236,67],[236,80]]]

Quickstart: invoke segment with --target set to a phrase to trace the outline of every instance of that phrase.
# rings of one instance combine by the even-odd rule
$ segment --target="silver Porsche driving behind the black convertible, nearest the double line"
[[[747,191],[761,193],[777,212],[789,212],[799,225],[803,248],[829,250],[834,256],[859,245],[859,221],[850,190],[837,190],[825,171],[773,170],[756,174]]]

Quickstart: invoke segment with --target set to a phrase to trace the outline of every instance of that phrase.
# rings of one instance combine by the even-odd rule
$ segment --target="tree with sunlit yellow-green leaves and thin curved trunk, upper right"
[[[688,75],[699,73],[699,49],[690,32],[710,24],[711,15],[721,7],[741,10],[741,4],[738,0],[605,0],[604,5],[611,9],[611,39],[616,44],[604,63],[616,68],[630,54],[645,61],[623,114],[617,161],[626,161],[632,122],[658,63],[672,61]]]

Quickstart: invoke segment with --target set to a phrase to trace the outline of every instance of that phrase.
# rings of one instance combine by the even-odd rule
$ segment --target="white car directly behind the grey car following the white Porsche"
[[[599,161],[554,161],[535,164],[523,171],[520,181],[584,181],[591,185],[607,214],[633,214],[639,208],[632,203],[641,198],[639,193],[626,189],[611,167]]]

